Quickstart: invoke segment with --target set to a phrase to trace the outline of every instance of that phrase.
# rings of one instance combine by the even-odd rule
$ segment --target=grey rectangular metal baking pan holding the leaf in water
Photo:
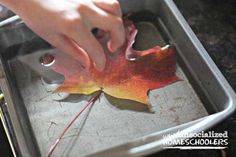
[[[112,106],[101,96],[75,123],[53,156],[147,155],[163,149],[163,135],[209,129],[235,110],[234,91],[172,0],[120,2],[124,14],[137,12],[131,17],[140,32],[135,47],[144,49],[156,43],[174,45],[178,53],[177,75],[183,81],[151,92],[154,113],[128,108],[128,104]],[[50,46],[17,17],[0,26],[0,85],[17,151],[24,157],[45,156],[87,97],[55,101],[58,95],[51,93],[41,76],[48,76],[49,80],[61,76],[50,75],[52,71],[42,66],[38,71],[35,68],[40,68],[39,56],[48,53]]]

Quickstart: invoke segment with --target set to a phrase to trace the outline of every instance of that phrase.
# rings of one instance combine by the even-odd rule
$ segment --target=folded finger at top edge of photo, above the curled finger
[[[115,16],[122,16],[120,4],[117,0],[93,0],[93,3],[100,9],[113,14]]]

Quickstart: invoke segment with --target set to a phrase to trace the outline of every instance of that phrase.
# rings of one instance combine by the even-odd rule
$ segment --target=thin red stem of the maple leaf
[[[76,116],[73,118],[73,120],[70,122],[70,124],[64,129],[64,131],[62,132],[62,134],[59,136],[59,138],[55,141],[55,143],[51,146],[51,148],[48,151],[47,157],[50,157],[53,153],[53,151],[55,150],[55,148],[57,147],[57,145],[59,144],[60,140],[63,138],[63,136],[65,135],[65,133],[67,132],[67,130],[71,127],[71,125],[76,121],[76,119],[80,116],[80,114],[91,104],[94,102],[94,100],[96,100],[98,98],[98,96],[101,94],[102,91],[99,91],[95,96],[93,96],[86,105],[84,105],[84,107],[76,114]]]

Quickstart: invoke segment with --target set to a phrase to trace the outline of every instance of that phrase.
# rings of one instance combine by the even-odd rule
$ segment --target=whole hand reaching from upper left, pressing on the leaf
[[[39,36],[78,59],[87,68],[90,66],[90,59],[99,70],[104,69],[106,62],[103,48],[91,33],[93,28],[110,33],[108,47],[111,51],[122,46],[125,40],[121,9],[117,0],[0,2],[15,11]],[[79,47],[87,53],[79,51]]]

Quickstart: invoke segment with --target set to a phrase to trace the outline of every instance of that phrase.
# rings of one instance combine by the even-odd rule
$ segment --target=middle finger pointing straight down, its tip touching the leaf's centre
[[[89,57],[95,63],[96,68],[102,71],[105,68],[106,57],[102,46],[92,32],[87,27],[80,27],[80,31],[72,31],[69,35],[88,53]]]

